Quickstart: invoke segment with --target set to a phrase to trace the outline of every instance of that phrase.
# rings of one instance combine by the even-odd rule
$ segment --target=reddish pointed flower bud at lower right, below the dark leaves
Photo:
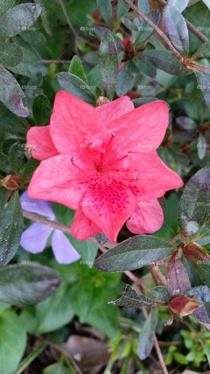
[[[197,303],[197,299],[177,294],[170,298],[169,308],[177,316],[183,317],[194,312],[195,309],[202,306]]]

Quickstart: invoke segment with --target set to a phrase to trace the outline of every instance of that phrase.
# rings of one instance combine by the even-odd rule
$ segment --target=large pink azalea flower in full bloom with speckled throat
[[[155,232],[163,224],[157,198],[183,186],[156,152],[168,111],[163,101],[134,109],[128,96],[93,108],[59,91],[50,125],[27,134],[42,161],[28,196],[75,209],[71,229],[79,240],[104,231],[114,242],[126,221],[133,233]]]

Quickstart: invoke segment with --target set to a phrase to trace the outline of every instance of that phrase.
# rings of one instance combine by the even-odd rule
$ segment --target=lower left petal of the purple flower
[[[42,252],[52,231],[52,227],[38,222],[33,223],[22,233],[20,244],[26,251],[33,254]]]

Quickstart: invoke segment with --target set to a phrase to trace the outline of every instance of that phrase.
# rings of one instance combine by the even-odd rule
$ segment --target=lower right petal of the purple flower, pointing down
[[[53,232],[51,245],[55,258],[60,264],[70,264],[80,258],[78,252],[60,230]]]

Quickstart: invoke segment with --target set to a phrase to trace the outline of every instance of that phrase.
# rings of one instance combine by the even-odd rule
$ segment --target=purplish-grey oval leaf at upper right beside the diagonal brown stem
[[[189,35],[183,16],[172,6],[166,6],[163,11],[163,24],[173,46],[182,56],[188,55]]]

